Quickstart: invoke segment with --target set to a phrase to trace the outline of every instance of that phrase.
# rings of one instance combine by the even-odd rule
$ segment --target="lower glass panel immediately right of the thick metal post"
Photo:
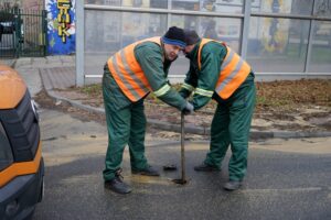
[[[255,72],[301,73],[308,50],[309,21],[252,18],[247,59]]]

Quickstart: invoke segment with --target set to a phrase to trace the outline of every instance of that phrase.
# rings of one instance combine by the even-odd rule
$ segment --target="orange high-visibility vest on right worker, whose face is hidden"
[[[197,52],[197,66],[201,69],[202,47],[214,40],[202,38]],[[217,42],[217,41],[214,41]],[[226,46],[224,43],[218,42]],[[216,84],[215,92],[222,98],[227,99],[245,81],[250,73],[250,66],[233,50],[226,46],[227,53],[221,65],[220,77]]]

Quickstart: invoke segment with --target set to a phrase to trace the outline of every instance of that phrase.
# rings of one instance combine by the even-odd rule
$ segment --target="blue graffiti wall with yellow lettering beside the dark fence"
[[[47,11],[49,54],[61,55],[75,52],[75,1],[45,0]]]

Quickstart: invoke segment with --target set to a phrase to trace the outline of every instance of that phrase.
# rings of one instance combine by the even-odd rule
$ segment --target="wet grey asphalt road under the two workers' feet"
[[[331,139],[267,140],[250,143],[248,173],[241,190],[226,193],[228,155],[221,173],[196,173],[207,143],[185,143],[189,184],[180,177],[180,144],[147,136],[147,157],[160,177],[131,175],[132,193],[104,188],[106,127],[52,110],[41,111],[45,194],[33,219],[331,219]],[[160,144],[162,143],[162,144]]]

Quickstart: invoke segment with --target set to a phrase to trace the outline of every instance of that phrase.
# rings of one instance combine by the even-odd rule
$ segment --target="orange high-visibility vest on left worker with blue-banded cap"
[[[135,47],[143,42],[153,42],[161,45],[161,37],[156,36],[132,43],[113,55],[107,64],[108,68],[121,91],[131,101],[138,101],[145,97],[151,87],[135,57]]]

